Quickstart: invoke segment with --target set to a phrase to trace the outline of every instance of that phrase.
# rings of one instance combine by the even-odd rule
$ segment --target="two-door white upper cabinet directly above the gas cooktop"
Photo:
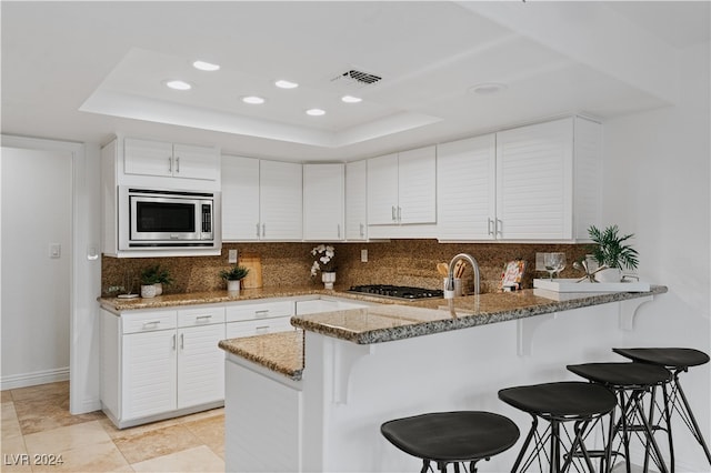
[[[437,223],[434,147],[368,160],[368,223]]]

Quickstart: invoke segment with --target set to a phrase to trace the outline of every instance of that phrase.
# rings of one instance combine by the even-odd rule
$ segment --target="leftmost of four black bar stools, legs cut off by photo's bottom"
[[[403,452],[422,459],[424,473],[430,462],[441,472],[449,463],[459,472],[459,463],[477,462],[509,450],[519,440],[519,427],[508,417],[491,412],[434,412],[395,419],[380,426],[382,435]]]

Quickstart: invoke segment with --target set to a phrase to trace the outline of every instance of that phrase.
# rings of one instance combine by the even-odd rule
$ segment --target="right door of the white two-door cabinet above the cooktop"
[[[398,155],[398,221],[437,223],[437,151],[420,148]]]

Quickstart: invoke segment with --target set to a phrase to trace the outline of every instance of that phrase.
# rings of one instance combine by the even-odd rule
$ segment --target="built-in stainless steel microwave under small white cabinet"
[[[119,187],[119,250],[219,249],[220,193]]]

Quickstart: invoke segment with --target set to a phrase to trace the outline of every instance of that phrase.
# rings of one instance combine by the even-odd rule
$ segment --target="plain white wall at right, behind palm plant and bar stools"
[[[604,123],[603,222],[635,234],[640,276],[669,293],[640,308],[628,346],[689,346],[711,354],[709,44],[684,51],[674,107]],[[711,441],[711,363],[682,384]],[[678,471],[709,471],[675,425]]]

